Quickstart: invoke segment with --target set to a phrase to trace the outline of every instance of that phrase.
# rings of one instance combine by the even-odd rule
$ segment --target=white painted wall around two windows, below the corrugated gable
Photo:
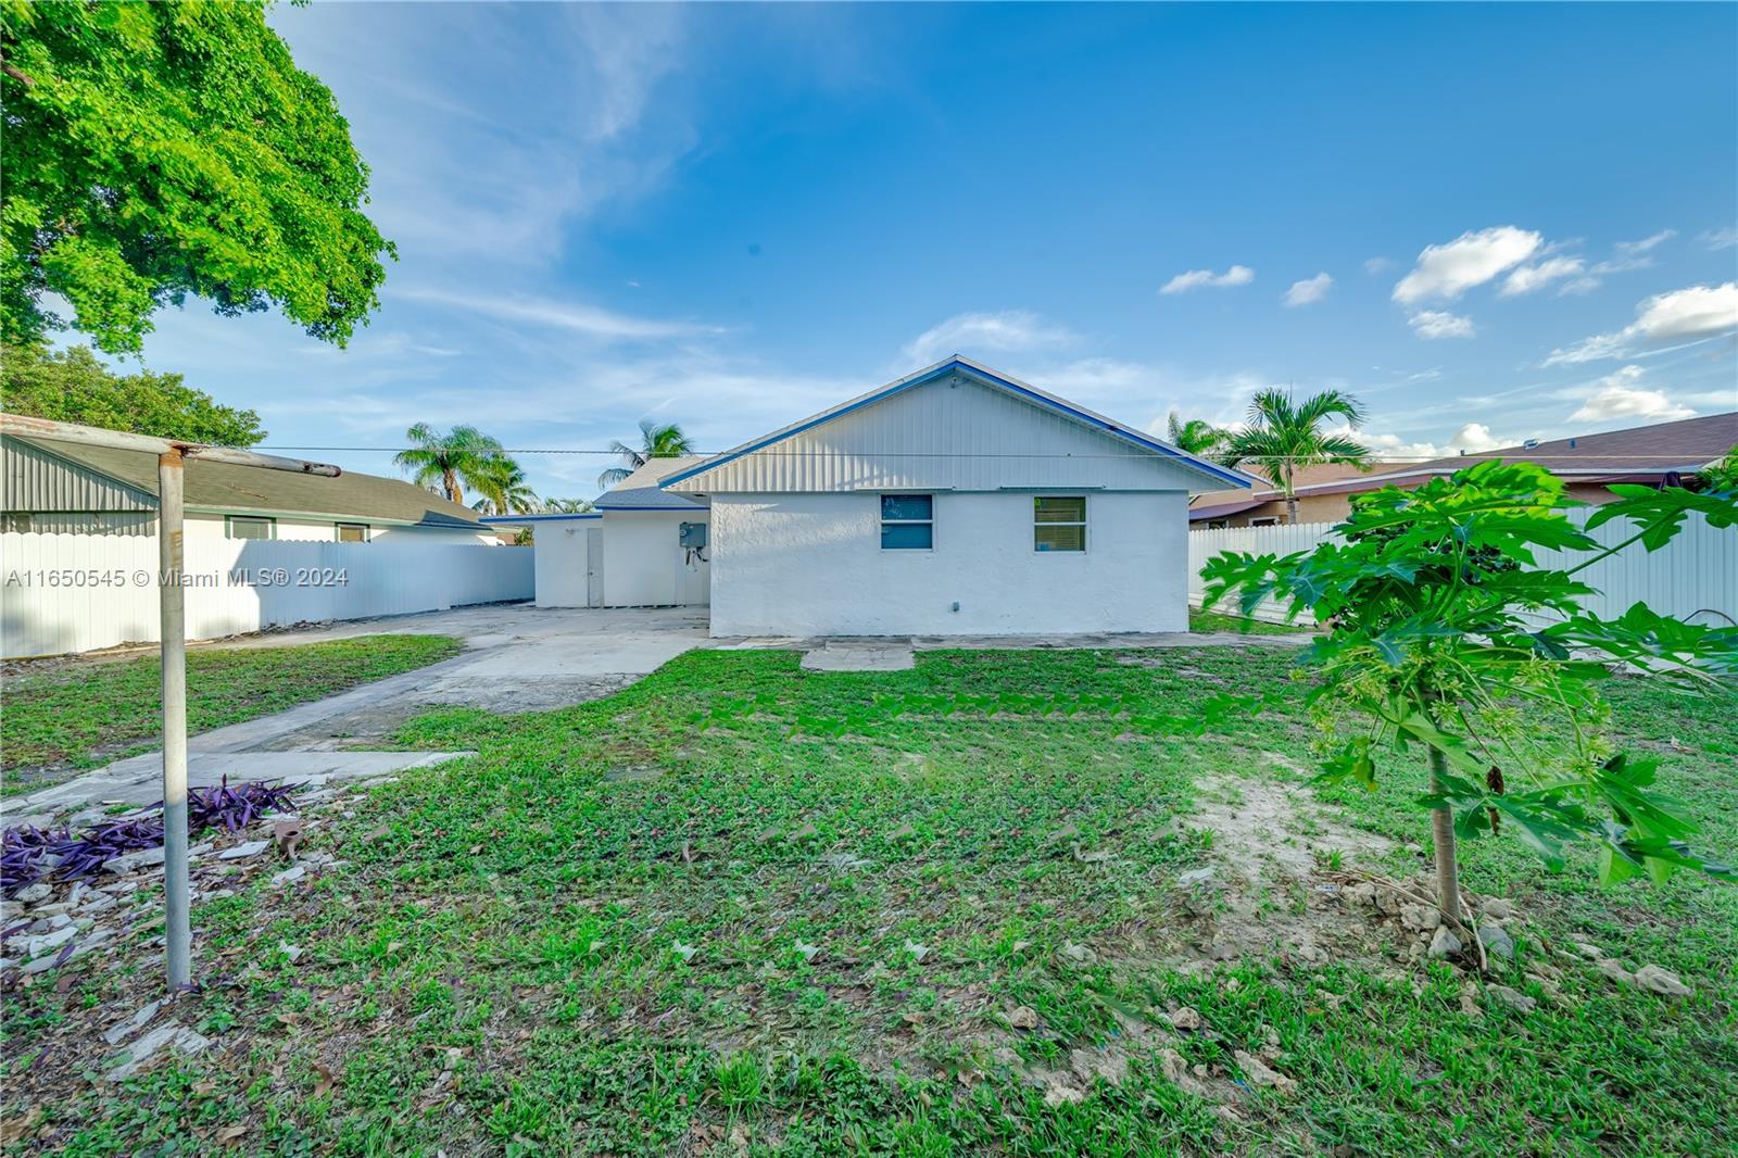
[[[879,492],[713,496],[713,635],[1185,631],[1184,492],[1085,494],[1083,553],[1032,549],[1032,492],[935,494],[933,551],[881,549]]]

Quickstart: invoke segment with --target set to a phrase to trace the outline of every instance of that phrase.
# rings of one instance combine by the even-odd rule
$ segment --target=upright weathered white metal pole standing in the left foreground
[[[163,635],[163,941],[169,988],[193,981],[193,930],[188,920],[188,607],[182,570],[181,450],[156,456],[158,605]]]

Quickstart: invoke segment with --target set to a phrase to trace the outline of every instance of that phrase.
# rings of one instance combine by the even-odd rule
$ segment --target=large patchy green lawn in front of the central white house
[[[1733,1153],[1729,885],[1601,892],[1582,862],[1469,849],[1469,887],[1528,916],[1500,977],[1542,1000],[1524,1015],[1463,1005],[1463,974],[1380,937],[1206,968],[1236,906],[1203,911],[1178,875],[1251,854],[1178,817],[1276,775],[1309,798],[1281,770],[1309,725],[1281,708],[1191,737],[1156,713],[1286,689],[1291,659],[923,652],[829,675],[690,652],[567,711],[422,716],[407,742],[478,755],[323,822],[315,847],[346,864],[315,887],[196,908],[214,984],[181,1019],[221,1052],[92,1081],[111,1050],[87,1021],[115,1017],[92,1010],[148,1000],[158,962],[64,993],[50,974],[5,995],[5,1115],[38,1106],[66,1155],[217,1149],[226,1128],[262,1155]],[[1738,850],[1738,722],[1641,682],[1616,701],[1707,843]],[[1416,777],[1390,775],[1304,826],[1425,840]],[[1363,862],[1425,871],[1397,847]],[[1338,908],[1284,883],[1243,904],[1255,935]],[[1616,989],[1554,951],[1569,935],[1695,995]],[[1182,1005],[1199,1031],[1170,1028]],[[1297,1090],[1244,1087],[1239,1050]]]

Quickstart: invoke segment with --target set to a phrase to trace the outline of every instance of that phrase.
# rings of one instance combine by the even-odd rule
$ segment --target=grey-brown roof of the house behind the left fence
[[[9,436],[5,442],[12,442],[12,438]],[[94,473],[136,494],[148,496],[149,506],[146,509],[156,508],[156,456],[149,452],[87,447],[49,438],[17,438],[17,442],[40,456],[64,461],[71,469]],[[269,511],[313,518],[332,516],[483,530],[476,511],[396,478],[351,471],[344,471],[337,478],[318,478],[224,463],[200,463],[198,459],[188,461],[186,471],[186,504],[191,509]],[[14,506],[10,494],[7,494],[5,502],[7,509],[33,509]],[[35,509],[87,508],[38,506]]]

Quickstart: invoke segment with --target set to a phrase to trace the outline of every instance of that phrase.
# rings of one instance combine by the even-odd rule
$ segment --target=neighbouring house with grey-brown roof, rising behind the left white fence
[[[0,530],[151,536],[156,456],[49,438],[0,438]],[[191,461],[188,539],[497,542],[476,511],[396,478],[337,478]]]

